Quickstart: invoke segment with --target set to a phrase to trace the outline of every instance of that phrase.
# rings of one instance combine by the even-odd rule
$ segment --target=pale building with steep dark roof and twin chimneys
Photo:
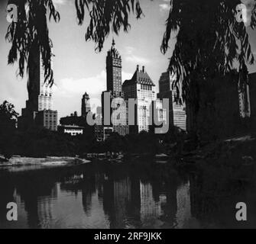
[[[132,133],[140,133],[142,130],[148,131],[151,125],[151,106],[152,101],[155,101],[156,92],[155,85],[150,76],[147,74],[143,66],[139,70],[137,66],[134,75],[130,80],[126,80],[122,85],[125,95],[125,101],[129,98],[137,99],[137,109],[135,110],[135,126],[132,126]]]

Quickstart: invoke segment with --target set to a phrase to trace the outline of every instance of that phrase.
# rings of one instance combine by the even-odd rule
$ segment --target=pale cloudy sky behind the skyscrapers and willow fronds
[[[87,92],[93,104],[100,105],[100,95],[106,88],[105,57],[115,37],[116,48],[122,56],[122,82],[131,79],[136,66],[145,66],[147,73],[157,85],[162,72],[167,70],[169,58],[175,45],[175,37],[170,41],[166,55],[160,53],[170,0],[141,0],[144,18],[137,20],[131,15],[131,30],[121,31],[116,36],[109,34],[101,53],[95,52],[95,43],[86,42],[86,24],[79,26],[76,21],[74,0],[53,0],[60,11],[60,22],[49,24],[50,38],[53,40],[53,109],[59,117],[78,111],[81,99]],[[18,66],[7,65],[10,43],[5,41],[8,28],[5,8],[7,0],[0,0],[0,103],[9,101],[21,114],[28,100],[27,77],[16,75]],[[256,31],[249,30],[252,50],[256,54]],[[249,67],[256,72],[255,66]]]

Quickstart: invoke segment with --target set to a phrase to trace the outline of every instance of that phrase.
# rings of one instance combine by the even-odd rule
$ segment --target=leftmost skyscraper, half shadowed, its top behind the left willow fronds
[[[38,47],[29,56],[28,101],[18,119],[18,127],[25,129],[33,124],[49,130],[57,130],[57,111],[53,111],[52,87],[45,82],[44,66]]]

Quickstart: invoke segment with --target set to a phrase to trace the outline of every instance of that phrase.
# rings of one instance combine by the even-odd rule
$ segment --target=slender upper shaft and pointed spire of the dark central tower
[[[114,39],[108,52],[106,64],[107,92],[112,91],[113,96],[120,96],[122,94],[122,58],[115,48]]]

